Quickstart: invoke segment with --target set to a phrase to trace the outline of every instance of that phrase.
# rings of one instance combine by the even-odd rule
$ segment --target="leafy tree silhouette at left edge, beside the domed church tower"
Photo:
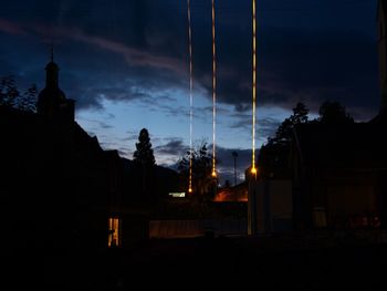
[[[38,89],[32,84],[24,93],[20,93],[12,75],[3,76],[0,80],[0,104],[27,112],[36,111]]]

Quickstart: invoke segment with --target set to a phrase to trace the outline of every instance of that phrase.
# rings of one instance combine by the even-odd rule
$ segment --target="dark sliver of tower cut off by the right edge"
[[[387,112],[387,0],[378,0],[378,53],[379,53],[379,86],[380,113]]]

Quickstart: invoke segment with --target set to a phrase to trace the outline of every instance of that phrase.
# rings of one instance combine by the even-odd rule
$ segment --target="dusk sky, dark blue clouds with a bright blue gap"
[[[216,0],[220,179],[251,157],[251,0]],[[376,0],[257,0],[258,147],[301,101],[317,116],[338,101],[357,121],[379,105]],[[194,141],[212,143],[211,1],[191,0]],[[156,162],[189,146],[186,0],[3,1],[0,76],[44,87],[54,43],[60,86],[76,121],[105,149],[132,158],[150,133]],[[209,146],[209,149],[211,146]]]

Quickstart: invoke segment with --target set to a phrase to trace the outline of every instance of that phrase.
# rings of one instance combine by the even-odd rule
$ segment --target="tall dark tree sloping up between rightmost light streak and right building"
[[[285,118],[268,143],[260,149],[258,166],[261,177],[283,177],[289,174],[289,150],[294,125],[308,122],[308,110],[299,102],[293,114]]]

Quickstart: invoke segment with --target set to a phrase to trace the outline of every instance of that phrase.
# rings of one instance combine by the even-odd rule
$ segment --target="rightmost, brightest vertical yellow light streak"
[[[251,173],[257,174],[255,168],[255,106],[257,106],[257,17],[255,0],[252,0],[252,160]]]

